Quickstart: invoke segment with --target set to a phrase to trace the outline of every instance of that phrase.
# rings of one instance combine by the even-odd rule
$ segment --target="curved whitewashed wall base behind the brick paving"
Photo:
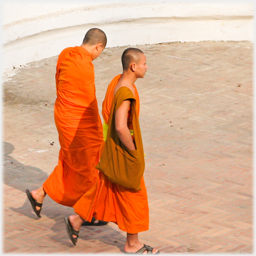
[[[59,55],[82,43],[89,28],[107,47],[171,41],[253,41],[252,3],[5,4],[3,67]]]

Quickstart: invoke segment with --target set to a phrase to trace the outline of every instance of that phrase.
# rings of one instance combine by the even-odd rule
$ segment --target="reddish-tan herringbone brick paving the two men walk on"
[[[142,242],[163,253],[251,253],[253,44],[139,47],[149,65],[136,82],[150,207]],[[94,60],[100,110],[123,50],[106,49]],[[122,253],[126,233],[113,223],[82,228],[73,247],[63,222],[72,209],[46,197],[37,219],[25,196],[57,164],[56,59],[5,79],[4,252]]]

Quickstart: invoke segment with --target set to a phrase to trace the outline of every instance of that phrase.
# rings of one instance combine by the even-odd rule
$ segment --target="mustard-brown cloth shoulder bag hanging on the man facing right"
[[[136,145],[134,151],[127,149],[121,143],[115,126],[116,111],[124,100],[132,101],[130,110]],[[107,139],[96,168],[103,172],[108,180],[113,183],[123,185],[126,188],[141,190],[140,180],[145,169],[143,144],[136,111],[136,100],[133,92],[127,87],[120,87],[114,95],[108,121]]]

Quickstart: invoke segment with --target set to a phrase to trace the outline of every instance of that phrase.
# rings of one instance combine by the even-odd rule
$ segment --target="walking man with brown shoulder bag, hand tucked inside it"
[[[100,169],[98,184],[76,202],[73,208],[77,214],[65,217],[65,224],[73,245],[84,220],[89,222],[95,217],[114,222],[127,232],[125,252],[159,254],[157,249],[143,245],[138,238],[139,232],[149,229],[149,207],[143,179],[145,161],[138,121],[139,95],[134,83],[145,76],[148,65],[143,52],[136,48],[126,49],[121,61],[123,73],[111,81],[103,102],[104,123],[108,125],[105,125],[107,137],[97,165]],[[123,158],[116,153],[118,151],[124,154]],[[128,173],[123,172],[121,176],[116,168],[118,161],[114,163],[116,154],[120,161],[129,165]],[[133,179],[141,170],[140,178]]]

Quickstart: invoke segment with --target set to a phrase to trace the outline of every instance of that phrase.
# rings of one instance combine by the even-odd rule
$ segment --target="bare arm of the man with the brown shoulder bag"
[[[127,126],[127,116],[130,107],[130,101],[125,100],[116,111],[116,131],[121,143],[130,150],[135,150],[132,135]]]

